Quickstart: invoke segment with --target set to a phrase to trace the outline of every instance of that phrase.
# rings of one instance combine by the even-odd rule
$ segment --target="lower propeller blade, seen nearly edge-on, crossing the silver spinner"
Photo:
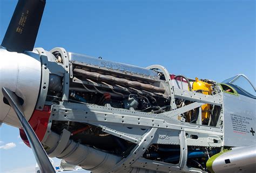
[[[22,124],[23,130],[28,137],[30,146],[32,148],[33,154],[36,157],[36,161],[39,165],[41,172],[43,173],[52,173],[56,172],[53,168],[41,142],[38,140],[35,132],[30,126],[29,122],[26,121],[24,114],[22,112],[21,104],[19,103],[18,97],[15,93],[10,91],[10,89],[3,87],[2,92],[4,97],[8,100],[10,106],[15,110],[15,113],[18,116],[19,121]]]

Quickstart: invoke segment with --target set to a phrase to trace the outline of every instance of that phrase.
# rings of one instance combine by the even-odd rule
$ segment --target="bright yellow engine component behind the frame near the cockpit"
[[[192,90],[206,94],[206,95],[212,94],[211,84],[201,81],[198,78],[196,78],[196,81],[193,82]],[[202,108],[202,121],[204,122],[210,117],[211,105],[205,104],[201,106],[201,108]]]

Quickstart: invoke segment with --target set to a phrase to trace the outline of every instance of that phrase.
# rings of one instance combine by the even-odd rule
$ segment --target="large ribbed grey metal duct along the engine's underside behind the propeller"
[[[69,134],[70,132],[64,129],[61,135],[51,132],[44,139],[43,143],[48,146],[47,152],[50,157],[63,159],[69,164],[79,165],[93,173],[109,172],[122,160],[122,157],[70,140]]]

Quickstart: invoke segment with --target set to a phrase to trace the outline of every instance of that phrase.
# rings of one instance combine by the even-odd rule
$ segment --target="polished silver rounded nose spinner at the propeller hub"
[[[35,109],[41,84],[41,61],[33,52],[17,53],[0,49],[0,122],[21,127],[14,110],[6,105],[2,87],[23,100],[23,112],[29,120]]]

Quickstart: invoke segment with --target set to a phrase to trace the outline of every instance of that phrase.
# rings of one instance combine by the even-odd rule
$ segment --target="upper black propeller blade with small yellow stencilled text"
[[[19,0],[2,46],[12,52],[32,51],[46,0]]]

